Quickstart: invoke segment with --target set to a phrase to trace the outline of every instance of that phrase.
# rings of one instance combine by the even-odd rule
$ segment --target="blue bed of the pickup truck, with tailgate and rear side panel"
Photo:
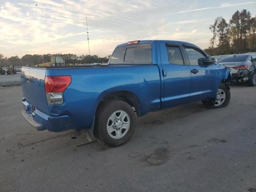
[[[45,76],[71,76],[63,104],[47,104]],[[90,128],[98,103],[113,92],[131,92],[143,98],[141,115],[160,109],[161,104],[160,71],[154,64],[23,67],[21,81],[26,102],[45,114],[41,116],[68,116],[70,126],[76,129]]]

